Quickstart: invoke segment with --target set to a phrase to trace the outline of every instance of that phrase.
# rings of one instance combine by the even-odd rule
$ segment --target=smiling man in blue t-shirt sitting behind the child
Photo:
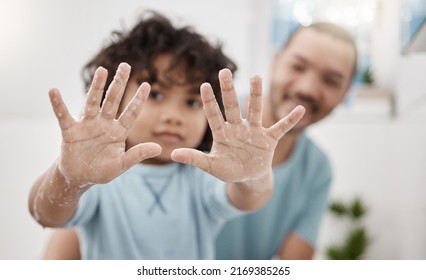
[[[269,203],[225,225],[216,243],[218,259],[313,258],[332,175],[327,156],[305,129],[342,102],[356,61],[352,37],[330,23],[296,30],[276,54],[264,101],[264,126],[299,104],[306,113],[276,147],[275,189]]]

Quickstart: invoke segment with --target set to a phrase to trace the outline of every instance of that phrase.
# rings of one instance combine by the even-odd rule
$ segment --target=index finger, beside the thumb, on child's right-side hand
[[[225,120],[223,119],[219,105],[213,93],[213,89],[208,83],[204,83],[200,87],[201,100],[203,101],[203,108],[206,114],[207,122],[213,135],[220,131],[223,127]]]

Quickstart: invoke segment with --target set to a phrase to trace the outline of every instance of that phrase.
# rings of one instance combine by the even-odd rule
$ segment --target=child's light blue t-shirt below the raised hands
[[[66,226],[77,226],[83,259],[212,259],[220,227],[240,213],[198,168],[137,164],[84,193]]]

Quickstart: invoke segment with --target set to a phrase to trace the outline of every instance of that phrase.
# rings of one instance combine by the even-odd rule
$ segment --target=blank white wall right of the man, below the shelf
[[[371,245],[366,258],[426,259],[426,106],[392,119],[378,110],[389,108],[385,101],[369,112],[353,113],[361,103],[339,108],[309,131],[333,164],[330,198],[348,202],[360,196],[367,205],[363,223]],[[317,258],[339,244],[347,228],[327,214]]]

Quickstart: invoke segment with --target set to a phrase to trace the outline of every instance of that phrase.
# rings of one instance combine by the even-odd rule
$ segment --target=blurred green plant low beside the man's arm
[[[326,249],[326,256],[331,260],[358,260],[362,259],[370,244],[365,226],[361,223],[367,213],[362,200],[357,197],[351,203],[345,204],[334,201],[330,204],[330,212],[339,217],[349,219],[350,229],[340,245],[331,245]]]

